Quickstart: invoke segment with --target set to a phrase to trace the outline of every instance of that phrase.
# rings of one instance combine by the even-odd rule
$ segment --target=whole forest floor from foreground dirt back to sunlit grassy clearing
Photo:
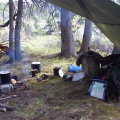
[[[54,76],[54,67],[61,67],[69,74],[68,65],[75,65],[76,58],[65,59],[53,54],[60,52],[58,38],[45,39],[42,38],[44,43],[39,39],[26,40],[26,44],[23,44],[26,51],[20,62],[8,64],[8,56],[1,58],[0,70],[17,74],[18,79],[29,86],[29,90],[14,89],[10,94],[0,94],[0,98],[17,95],[16,98],[1,101],[14,106],[16,110],[0,112],[0,120],[120,120],[120,103],[108,103],[86,95],[91,85],[89,78],[72,82]],[[31,76],[33,61],[41,62],[41,73],[36,77]],[[38,81],[43,74],[48,78]]]

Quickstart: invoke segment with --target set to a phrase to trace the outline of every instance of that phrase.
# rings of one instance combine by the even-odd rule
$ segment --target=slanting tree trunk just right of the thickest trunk
[[[88,51],[88,49],[91,46],[91,36],[92,36],[92,22],[88,19],[85,19],[84,35],[80,52]]]

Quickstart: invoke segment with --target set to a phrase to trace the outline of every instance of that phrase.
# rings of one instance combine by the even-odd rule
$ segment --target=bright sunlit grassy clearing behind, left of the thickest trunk
[[[27,54],[49,55],[60,52],[59,36],[38,36],[31,40],[26,40],[22,48]]]

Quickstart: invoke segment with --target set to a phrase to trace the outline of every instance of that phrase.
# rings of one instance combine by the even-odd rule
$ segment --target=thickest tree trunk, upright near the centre
[[[71,15],[64,9],[61,9],[61,55],[63,57],[75,55]]]

